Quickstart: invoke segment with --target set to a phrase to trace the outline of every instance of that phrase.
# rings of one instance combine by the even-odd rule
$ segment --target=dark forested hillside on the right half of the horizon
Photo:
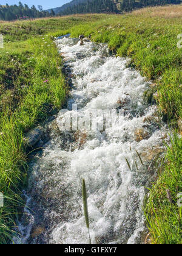
[[[59,15],[76,13],[123,13],[147,6],[180,4],[181,0],[88,0],[59,12]]]

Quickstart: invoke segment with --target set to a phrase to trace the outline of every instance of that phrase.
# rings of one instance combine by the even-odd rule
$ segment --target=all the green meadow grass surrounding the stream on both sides
[[[51,36],[92,34],[93,41],[107,43],[114,54],[129,57],[133,67],[157,84],[153,92],[158,92],[161,115],[179,132],[182,49],[177,48],[177,35],[182,33],[181,17],[181,5],[170,5],[126,15],[74,15],[0,23],[0,33],[5,36],[5,48],[0,49],[0,191],[12,198],[5,200],[1,209],[0,243],[12,235],[19,190],[27,173],[24,133],[46,117],[45,103],[61,108],[66,97],[64,76],[58,69],[61,59]],[[49,83],[43,83],[43,78]],[[181,138],[172,136],[172,146],[167,148],[158,181],[147,199],[145,213],[153,244],[182,242],[181,208],[177,206],[177,195],[182,191],[181,145]]]

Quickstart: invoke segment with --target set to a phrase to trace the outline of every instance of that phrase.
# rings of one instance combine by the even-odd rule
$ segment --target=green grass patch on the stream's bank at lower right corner
[[[182,191],[182,141],[172,140],[167,149],[163,172],[150,191],[146,205],[146,218],[152,243],[181,244],[182,207],[179,207],[178,193]],[[169,191],[170,200],[167,198]]]

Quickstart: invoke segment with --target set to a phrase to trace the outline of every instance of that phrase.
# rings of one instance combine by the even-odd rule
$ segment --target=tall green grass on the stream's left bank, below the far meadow
[[[0,191],[5,196],[5,205],[0,209],[0,243],[7,243],[12,237],[15,219],[18,212],[22,212],[22,200],[19,195],[27,176],[25,132],[46,118],[45,106],[61,108],[67,94],[64,75],[59,69],[62,60],[50,37],[45,40],[34,38],[25,42],[25,45],[26,48],[21,53],[16,52],[13,44],[12,49],[8,50],[9,56],[15,59],[15,62],[15,56],[21,58],[21,65],[18,58],[13,68],[19,68],[19,72],[17,74],[15,70],[13,86],[8,88],[7,85],[7,89],[4,87],[2,96],[3,100],[5,93],[11,91],[14,95],[12,107],[10,101],[1,102]],[[25,58],[25,55],[29,57]],[[6,59],[4,66],[5,61]],[[1,79],[3,82],[3,75]],[[44,82],[45,79],[47,82]]]

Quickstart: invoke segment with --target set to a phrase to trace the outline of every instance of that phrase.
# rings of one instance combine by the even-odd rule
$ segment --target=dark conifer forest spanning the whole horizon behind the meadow
[[[147,6],[180,4],[181,0],[88,0],[79,4],[70,5],[57,15],[72,15],[76,13],[124,13],[133,9]],[[31,18],[44,18],[55,16],[55,11],[43,10],[42,5],[35,5],[30,8],[27,4],[19,2],[18,5],[0,5],[0,20],[28,20]]]

